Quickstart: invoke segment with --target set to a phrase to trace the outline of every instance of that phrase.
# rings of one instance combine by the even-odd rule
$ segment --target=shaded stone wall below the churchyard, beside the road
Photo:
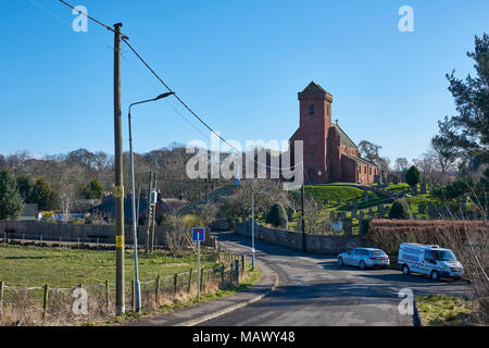
[[[243,223],[235,222],[235,233],[251,237],[251,221]],[[255,240],[264,240],[283,247],[302,250],[302,233],[285,229],[268,228],[255,225]],[[356,247],[367,247],[364,236],[327,236],[305,235],[308,252],[338,254]]]

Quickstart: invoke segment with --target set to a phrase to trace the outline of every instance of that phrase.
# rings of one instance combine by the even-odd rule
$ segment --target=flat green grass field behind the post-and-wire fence
[[[134,278],[133,252],[125,253],[125,278],[127,285]],[[172,258],[167,252],[151,254],[139,252],[139,278],[141,282],[164,277],[197,269],[197,256]],[[16,287],[72,287],[77,284],[95,285],[105,281],[115,282],[115,251],[0,246],[0,279]],[[201,264],[216,265],[215,254],[202,250]]]

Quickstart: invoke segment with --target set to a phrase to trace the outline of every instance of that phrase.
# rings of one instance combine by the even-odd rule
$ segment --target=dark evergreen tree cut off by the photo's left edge
[[[17,220],[23,209],[14,176],[7,167],[0,170],[0,220]]]

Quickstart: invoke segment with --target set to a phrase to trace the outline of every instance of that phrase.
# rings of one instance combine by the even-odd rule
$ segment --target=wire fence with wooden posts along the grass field
[[[226,250],[216,251],[217,261],[209,269],[173,275],[156,276],[140,282],[141,308],[147,312],[191,300],[218,289],[239,286],[249,276],[243,254]],[[125,308],[135,311],[134,279],[125,284]],[[109,281],[72,287],[53,287],[49,284],[36,287],[15,287],[0,279],[0,325],[82,325],[115,316],[115,284]]]

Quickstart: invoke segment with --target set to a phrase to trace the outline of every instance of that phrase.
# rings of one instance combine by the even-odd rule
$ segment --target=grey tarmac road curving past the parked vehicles
[[[229,250],[251,256],[250,238],[223,233],[220,243]],[[336,256],[302,253],[255,241],[258,265],[278,274],[278,287],[268,297],[242,309],[206,321],[202,326],[322,326],[415,324],[415,315],[401,314],[399,291],[414,295],[468,295],[463,282],[434,282],[397,270],[340,266]]]

